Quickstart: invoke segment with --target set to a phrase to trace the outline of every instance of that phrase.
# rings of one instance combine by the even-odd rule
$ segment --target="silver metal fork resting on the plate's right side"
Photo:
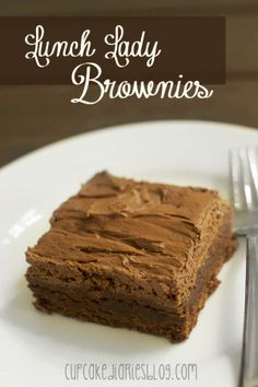
[[[239,387],[258,387],[258,154],[256,149],[230,152],[235,232],[246,237],[245,322]]]

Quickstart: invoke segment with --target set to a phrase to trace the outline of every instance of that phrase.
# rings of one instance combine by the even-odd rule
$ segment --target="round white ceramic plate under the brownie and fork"
[[[235,386],[243,329],[244,246],[224,266],[222,284],[200,313],[190,338],[174,345],[149,335],[36,312],[24,279],[24,251],[47,230],[52,210],[96,172],[216,188],[226,196],[227,150],[248,144],[258,144],[258,132],[247,128],[154,121],[64,140],[0,169],[0,386]],[[139,363],[142,374],[136,372],[134,377],[149,373],[156,379],[129,380],[125,374],[124,380],[99,380],[95,363],[107,365],[104,377],[113,364],[121,374],[125,364],[137,367]],[[191,363],[197,365],[197,380],[187,365]],[[67,364],[78,365],[77,379],[67,379],[74,370],[66,368]],[[180,380],[162,380],[163,374],[171,376],[163,373],[163,364],[169,364],[167,373],[172,370]],[[86,376],[95,380],[85,380]]]

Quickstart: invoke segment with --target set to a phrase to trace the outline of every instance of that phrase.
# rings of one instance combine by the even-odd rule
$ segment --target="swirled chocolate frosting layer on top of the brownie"
[[[95,175],[52,215],[28,261],[70,261],[80,270],[160,281],[167,292],[195,283],[222,218],[214,190]]]

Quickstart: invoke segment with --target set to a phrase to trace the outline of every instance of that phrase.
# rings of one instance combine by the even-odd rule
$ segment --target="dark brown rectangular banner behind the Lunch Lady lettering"
[[[1,84],[68,84],[87,62],[102,80],[225,83],[222,16],[0,17],[0,47]]]

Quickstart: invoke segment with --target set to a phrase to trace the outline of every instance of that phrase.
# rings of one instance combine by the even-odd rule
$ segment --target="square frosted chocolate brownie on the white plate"
[[[28,248],[35,306],[185,340],[236,242],[214,190],[95,175]]]

